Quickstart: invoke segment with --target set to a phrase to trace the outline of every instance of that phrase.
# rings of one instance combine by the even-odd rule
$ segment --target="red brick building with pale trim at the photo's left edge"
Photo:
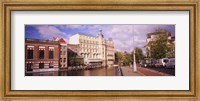
[[[59,48],[56,41],[25,39],[26,72],[58,71]]]

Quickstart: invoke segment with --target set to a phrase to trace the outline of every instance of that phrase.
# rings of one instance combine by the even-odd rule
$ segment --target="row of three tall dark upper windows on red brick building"
[[[33,59],[33,51],[34,50],[28,50],[27,53],[27,59]],[[39,50],[39,59],[44,59],[44,52],[45,50]],[[54,51],[53,50],[49,50],[49,59],[53,59],[54,58]]]

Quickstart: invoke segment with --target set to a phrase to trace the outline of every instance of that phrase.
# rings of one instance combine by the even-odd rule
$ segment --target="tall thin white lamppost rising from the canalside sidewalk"
[[[134,25],[132,25],[132,33],[133,33],[133,72],[137,72],[137,66],[135,61]]]

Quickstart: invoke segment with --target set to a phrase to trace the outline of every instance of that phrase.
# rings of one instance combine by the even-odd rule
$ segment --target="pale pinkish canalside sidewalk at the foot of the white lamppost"
[[[133,72],[133,68],[128,66],[121,67],[121,71],[123,76],[143,76],[143,74],[140,72]]]

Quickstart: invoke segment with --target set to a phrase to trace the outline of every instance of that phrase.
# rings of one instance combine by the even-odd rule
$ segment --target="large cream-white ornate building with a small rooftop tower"
[[[106,40],[102,30],[98,36],[76,34],[70,37],[69,44],[79,44],[81,50],[78,55],[84,58],[84,63],[102,63],[111,66],[114,64],[114,43],[111,38]]]

